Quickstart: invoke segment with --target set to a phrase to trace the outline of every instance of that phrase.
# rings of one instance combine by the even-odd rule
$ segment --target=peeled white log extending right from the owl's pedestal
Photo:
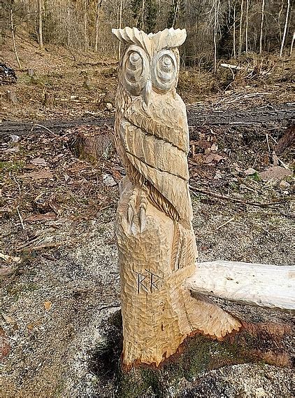
[[[295,266],[235,261],[197,263],[188,289],[220,299],[280,310],[295,310]]]

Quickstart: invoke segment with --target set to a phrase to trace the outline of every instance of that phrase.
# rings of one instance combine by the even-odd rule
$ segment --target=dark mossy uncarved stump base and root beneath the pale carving
[[[211,392],[211,388],[218,390],[220,387],[215,385],[210,373],[206,376],[206,372],[222,368],[221,373],[224,374],[226,381],[226,373],[231,372],[232,365],[250,364],[251,369],[253,367],[256,369],[256,373],[259,369],[262,373],[266,373],[267,364],[270,364],[275,365],[269,367],[271,374],[281,374],[283,370],[281,371],[280,368],[284,368],[285,377],[289,378],[289,382],[286,382],[273,376],[273,385],[277,386],[279,391],[283,388],[290,390],[289,395],[285,393],[270,396],[292,397],[292,343],[286,344],[286,340],[291,338],[292,328],[289,324],[243,323],[243,329],[240,332],[227,337],[222,342],[196,334],[186,338],[178,352],[166,359],[159,367],[141,364],[129,371],[122,366],[121,311],[110,315],[103,323],[103,327],[103,342],[92,357],[91,371],[99,378],[99,385],[103,391],[107,391],[108,396],[171,397],[171,391],[174,391],[179,392],[173,395],[175,397],[220,397],[222,391],[217,394]],[[255,363],[258,364],[258,368],[255,368]],[[244,378],[249,378],[249,368],[245,367],[243,371],[243,366],[240,366],[238,369],[241,373],[245,372]],[[206,382],[206,377],[210,383]],[[237,380],[237,382],[240,387],[243,385],[243,380]],[[283,382],[285,385],[280,385]],[[198,387],[199,383],[200,387]],[[204,385],[207,385],[209,389],[207,392],[203,390]],[[260,385],[254,387],[260,387]],[[110,390],[107,390],[108,388]],[[238,394],[227,396],[238,396]],[[240,396],[254,397],[255,395],[242,394]]]

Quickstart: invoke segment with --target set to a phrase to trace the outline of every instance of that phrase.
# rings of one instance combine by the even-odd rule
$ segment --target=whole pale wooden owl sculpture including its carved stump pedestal
[[[212,320],[208,310],[222,310],[184,287],[197,256],[187,114],[176,93],[186,31],[126,27],[113,34],[124,43],[115,116],[115,146],[127,172],[116,221],[123,363],[158,365],[196,330],[221,338],[233,329],[232,318]]]

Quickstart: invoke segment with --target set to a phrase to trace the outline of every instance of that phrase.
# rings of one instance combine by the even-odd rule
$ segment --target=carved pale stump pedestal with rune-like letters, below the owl
[[[240,329],[240,322],[208,299],[195,299],[184,281],[195,270],[196,244],[191,228],[183,228],[147,203],[145,227],[137,215],[130,223],[134,186],[125,177],[117,207],[123,363],[159,366],[196,332],[222,340]],[[138,193],[140,195],[140,193]],[[181,261],[173,262],[175,235],[180,236]],[[173,267],[172,267],[173,265]]]

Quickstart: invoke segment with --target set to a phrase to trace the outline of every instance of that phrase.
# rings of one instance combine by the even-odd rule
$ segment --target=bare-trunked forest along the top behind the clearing
[[[73,57],[85,51],[107,57],[118,52],[112,27],[181,27],[188,34],[182,65],[216,71],[220,58],[292,53],[293,8],[292,0],[6,0],[2,39],[5,45],[13,36],[16,55],[15,36],[26,32],[41,49],[55,44]]]

